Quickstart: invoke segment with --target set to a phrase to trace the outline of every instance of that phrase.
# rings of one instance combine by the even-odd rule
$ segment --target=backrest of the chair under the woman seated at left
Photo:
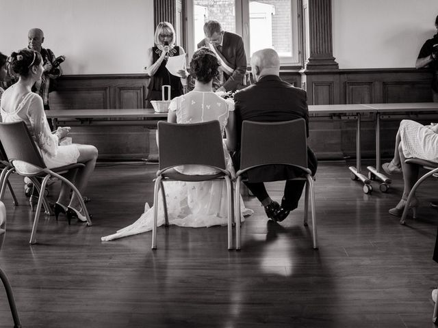
[[[24,161],[41,169],[46,168],[25,122],[0,123],[0,141],[11,163]]]

